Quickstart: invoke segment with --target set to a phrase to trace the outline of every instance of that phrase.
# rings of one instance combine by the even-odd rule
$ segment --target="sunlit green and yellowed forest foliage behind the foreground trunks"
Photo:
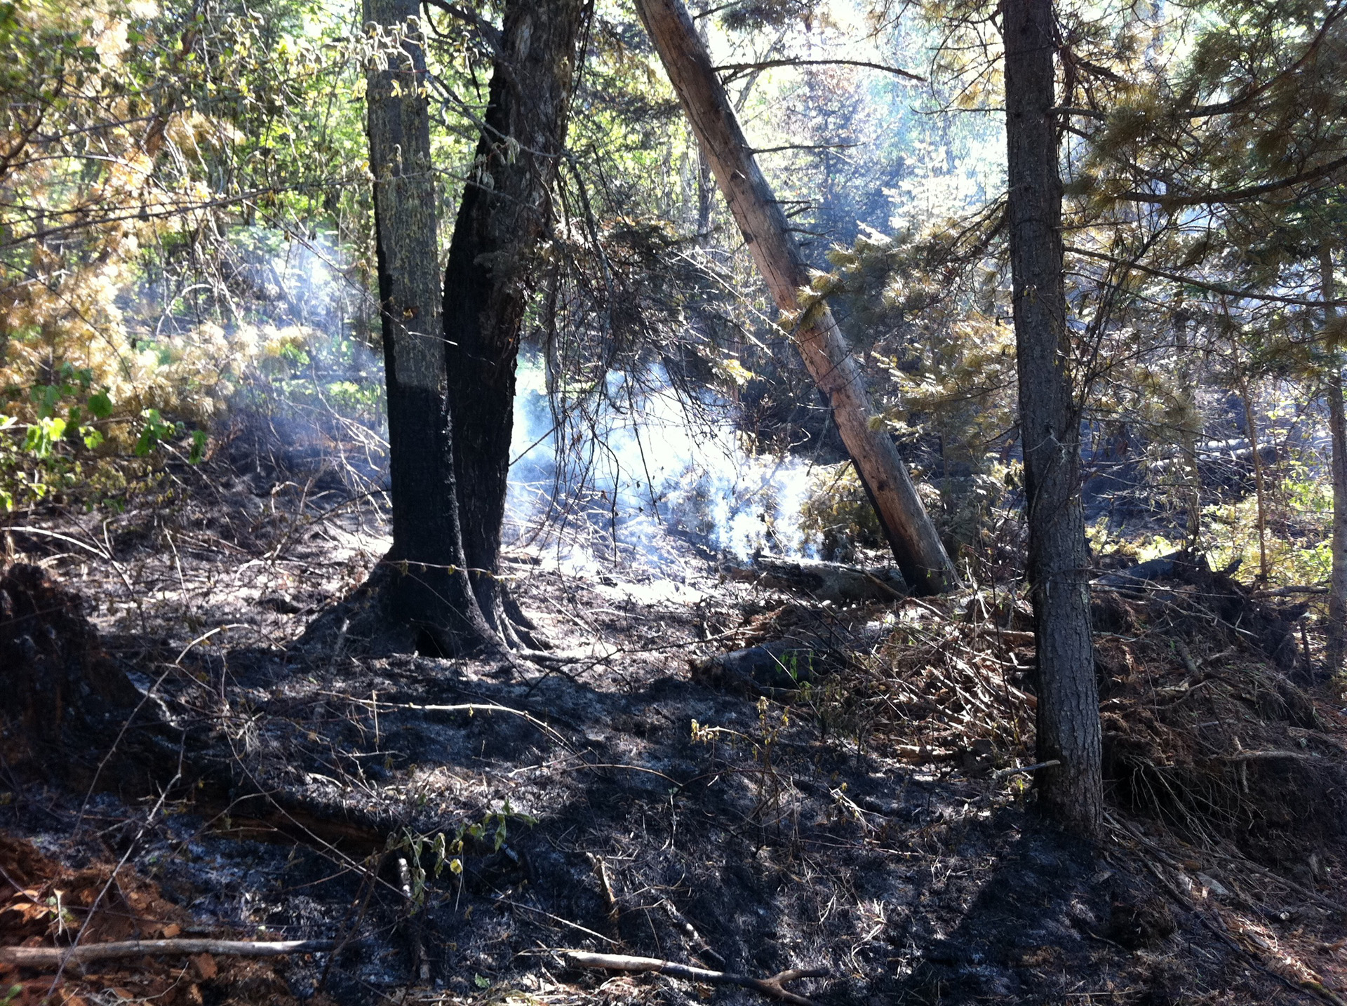
[[[995,12],[792,1],[694,15],[960,574],[1013,582],[1022,475]],[[1329,593],[1342,15],[1057,8],[1096,558],[1189,545],[1218,567],[1242,559],[1262,586]],[[474,147],[498,18],[424,8],[442,221],[465,186],[489,185]],[[357,444],[343,463],[380,492],[364,101],[377,44],[358,12],[22,3],[0,31],[7,520],[164,492],[164,455],[197,462],[263,420],[290,440]],[[634,12],[586,8],[582,53],[554,221],[525,279],[521,381],[546,393],[547,446],[570,466],[566,505],[544,509],[601,492],[609,505],[602,416],[653,384],[694,411],[714,403],[710,422],[733,424],[746,455],[808,459],[797,548],[878,545],[789,319]],[[770,547],[765,528],[756,544]],[[1347,537],[1336,548],[1342,570]],[[1339,578],[1339,605],[1340,591]],[[1317,614],[1316,629],[1342,621]]]

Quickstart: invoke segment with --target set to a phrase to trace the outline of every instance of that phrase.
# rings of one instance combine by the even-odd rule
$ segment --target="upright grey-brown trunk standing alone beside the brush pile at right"
[[[1037,774],[1048,811],[1094,835],[1103,804],[1099,691],[1090,633],[1080,419],[1063,280],[1053,120],[1052,0],[1005,0],[1010,269],[1029,510],[1028,579],[1039,650]]]

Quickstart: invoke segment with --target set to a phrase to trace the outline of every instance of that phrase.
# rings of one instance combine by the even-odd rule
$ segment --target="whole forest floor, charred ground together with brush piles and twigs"
[[[1014,772],[1032,636],[1005,599],[845,606],[675,541],[589,574],[520,548],[551,659],[302,653],[387,548],[377,510],[321,481],[176,478],[9,532],[141,699],[59,757],[26,758],[11,723],[0,944],[338,949],[0,964],[5,1003],[764,1002],[567,948],[826,968],[791,986],[819,1003],[1347,995],[1344,702],[1288,659],[1290,615],[1219,575],[1096,606],[1111,805],[1088,846]],[[775,668],[718,659],[758,644]]]

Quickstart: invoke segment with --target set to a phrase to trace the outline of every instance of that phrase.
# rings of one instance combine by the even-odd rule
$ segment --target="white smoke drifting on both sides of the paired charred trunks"
[[[322,236],[257,228],[248,238],[234,268],[253,291],[255,314],[315,333],[303,362],[277,361],[279,370],[251,385],[248,407],[284,440],[287,465],[321,463],[352,486],[383,483],[383,361],[366,343],[377,314]],[[506,544],[540,547],[575,572],[617,563],[676,579],[691,554],[812,552],[801,529],[810,462],[746,450],[725,397],[679,391],[655,368],[613,373],[564,408],[554,413],[540,356],[523,353]]]

